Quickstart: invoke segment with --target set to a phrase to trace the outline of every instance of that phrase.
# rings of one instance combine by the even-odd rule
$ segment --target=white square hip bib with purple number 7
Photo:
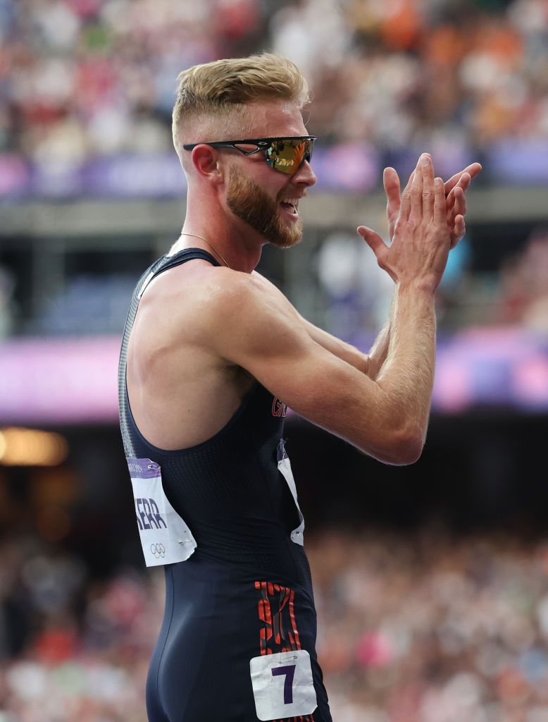
[[[253,657],[249,670],[260,720],[309,715],[317,708],[310,655],[305,649]]]

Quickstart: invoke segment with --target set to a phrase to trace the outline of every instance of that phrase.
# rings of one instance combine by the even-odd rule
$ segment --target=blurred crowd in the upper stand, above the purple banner
[[[263,49],[324,142],[546,138],[547,40],[545,0],[0,0],[0,153],[168,151],[177,74]]]

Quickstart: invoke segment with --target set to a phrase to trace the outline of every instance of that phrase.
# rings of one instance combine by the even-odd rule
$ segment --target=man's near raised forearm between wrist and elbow
[[[392,396],[402,417],[425,440],[436,362],[436,308],[433,293],[397,284],[389,329],[379,340],[387,344],[376,383]],[[379,358],[380,358],[379,354]]]

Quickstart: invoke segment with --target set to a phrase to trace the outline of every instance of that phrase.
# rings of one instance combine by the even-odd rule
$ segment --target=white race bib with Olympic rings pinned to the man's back
[[[184,562],[196,541],[164,494],[159,464],[149,458],[127,461],[146,566]]]

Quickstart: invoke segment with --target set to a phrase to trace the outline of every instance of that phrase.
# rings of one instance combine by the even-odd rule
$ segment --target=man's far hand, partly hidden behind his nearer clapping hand
[[[479,163],[467,165],[464,170],[451,176],[445,183],[446,215],[447,225],[451,230],[451,248],[454,248],[466,232],[464,215],[467,212],[466,193],[472,182],[472,178],[482,170]],[[410,185],[415,171],[410,176],[407,186]],[[388,220],[388,234],[390,240],[394,236],[394,224],[396,222],[399,206],[402,202],[399,188],[399,176],[394,168],[385,168],[383,173],[383,185],[386,192],[386,218]],[[406,187],[407,187],[406,186]]]

